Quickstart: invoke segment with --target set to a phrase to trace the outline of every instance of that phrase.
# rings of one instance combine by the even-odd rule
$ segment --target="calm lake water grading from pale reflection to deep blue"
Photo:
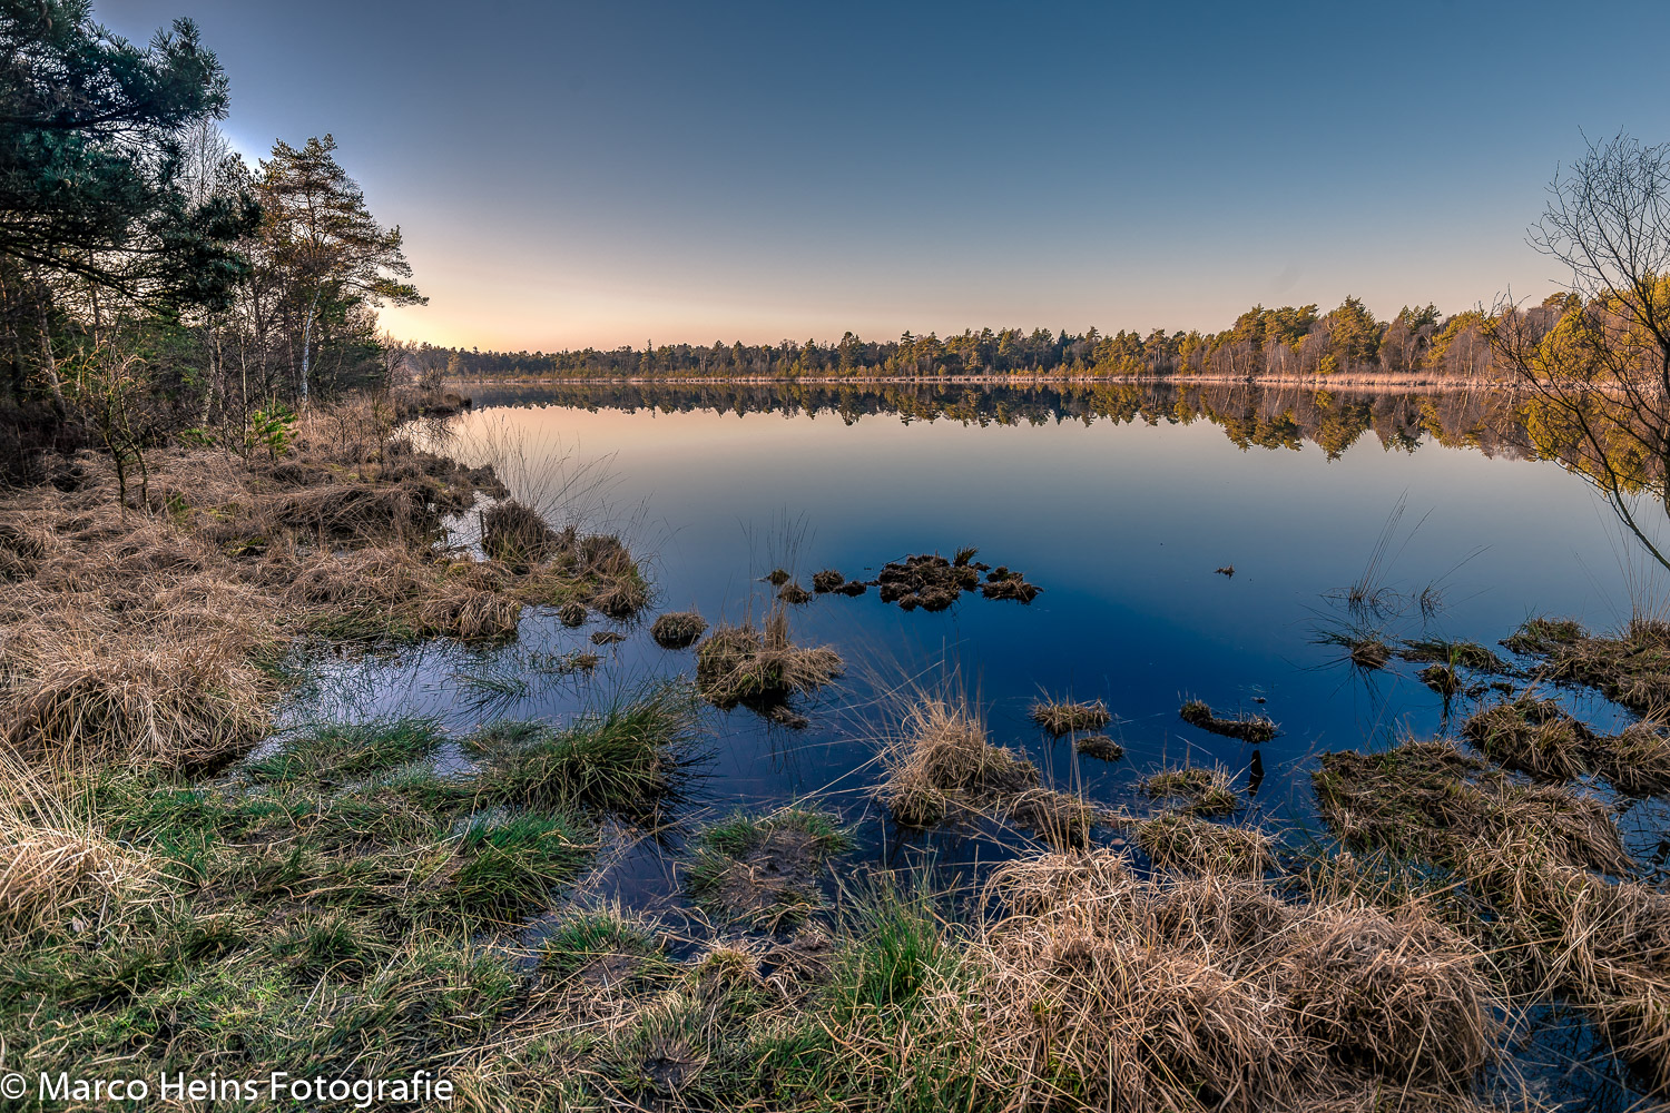
[[[967,694],[992,741],[1024,748],[1047,784],[1141,811],[1141,776],[1221,763],[1251,789],[1236,823],[1289,829],[1303,843],[1319,833],[1309,789],[1319,753],[1443,734],[1476,706],[1446,706],[1414,677],[1421,666],[1354,669],[1328,632],[1496,646],[1538,614],[1617,627],[1632,607],[1650,607],[1657,587],[1593,489],[1525,452],[1431,439],[1388,447],[1368,434],[1333,454],[1311,441],[1242,447],[1202,419],[843,421],[827,410],[584,409],[538,392],[483,400],[493,399],[478,392],[478,409],[451,422],[448,451],[494,462],[513,494],[558,524],[578,506],[583,526],[623,531],[648,557],[656,606],[636,622],[593,616],[578,629],[529,609],[513,646],[327,661],[292,716],[433,714],[458,734],[496,718],[563,723],[618,692],[690,676],[690,651],[648,636],[653,616],[696,609],[710,622],[758,621],[773,596],[762,577],[778,566],[803,584],[825,567],[868,579],[907,554],[977,546],[980,559],[1044,589],[1030,606],[965,594],[939,614],[902,612],[873,589],[793,607],[795,641],[835,647],[845,677],[797,706],[810,719],[798,731],[746,709],[706,709],[703,754],[673,831],[623,834],[586,883],[588,899],[678,908],[676,854],[688,831],[738,808],[800,799],[852,823],[855,868],[932,861],[977,878],[980,863],[1027,841],[990,824],[902,831],[872,794],[880,744],[902,709],[947,691]],[[566,499],[554,494],[564,482]],[[461,526],[468,539],[469,522]],[[1227,566],[1234,576],[1216,571]],[[1379,607],[1348,606],[1358,582]],[[1425,612],[1423,592],[1436,604]],[[626,641],[595,649],[600,629]],[[593,649],[605,656],[593,674],[536,667]],[[511,682],[489,691],[479,677]],[[1543,694],[1602,731],[1627,719],[1597,698]],[[1106,701],[1124,758],[1079,758],[1069,741],[1044,736],[1027,714],[1044,696]],[[1268,714],[1281,734],[1254,749],[1197,731],[1177,718],[1187,698],[1221,716]],[[1625,803],[1623,829],[1648,869],[1663,864],[1665,821],[1658,801]],[[1578,1021],[1545,1028],[1593,1045]]]

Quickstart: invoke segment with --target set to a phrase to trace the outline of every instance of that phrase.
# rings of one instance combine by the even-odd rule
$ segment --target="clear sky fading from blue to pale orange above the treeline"
[[[249,157],[331,132],[399,337],[1222,329],[1540,299],[1550,179],[1670,140],[1670,5],[95,0],[194,18]]]

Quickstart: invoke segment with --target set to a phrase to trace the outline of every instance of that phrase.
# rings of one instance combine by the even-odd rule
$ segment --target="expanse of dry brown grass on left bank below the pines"
[[[559,534],[528,574],[441,552],[443,516],[503,487],[387,429],[322,405],[279,461],[152,451],[144,502],[122,506],[92,452],[48,469],[68,489],[0,494],[0,739],[212,766],[266,734],[274,684],[252,662],[297,634],[498,639],[526,602],[646,601],[616,537]]]

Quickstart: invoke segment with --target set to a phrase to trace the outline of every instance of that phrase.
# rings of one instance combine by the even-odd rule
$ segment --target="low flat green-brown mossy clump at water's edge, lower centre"
[[[822,811],[738,813],[698,836],[685,889],[723,919],[777,931],[818,908],[817,874],[848,846],[840,821]]]

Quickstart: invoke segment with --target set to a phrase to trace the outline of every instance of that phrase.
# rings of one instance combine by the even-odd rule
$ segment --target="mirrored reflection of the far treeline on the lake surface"
[[[1364,434],[1413,452],[1425,441],[1486,456],[1535,457],[1511,397],[1490,390],[1369,392],[1252,384],[748,384],[588,382],[529,389],[479,387],[478,405],[554,404],[578,409],[835,414],[1019,426],[1075,421],[1157,426],[1207,421],[1242,449],[1298,449],[1309,441],[1338,457]]]

